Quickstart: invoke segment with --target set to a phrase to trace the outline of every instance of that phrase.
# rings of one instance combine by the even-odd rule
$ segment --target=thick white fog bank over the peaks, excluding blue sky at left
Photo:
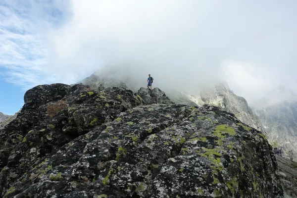
[[[249,104],[269,93],[287,99],[274,96],[280,86],[295,92],[297,1],[70,0],[50,8],[44,15],[54,24],[44,25],[44,15],[31,24],[47,49],[34,84],[73,84],[116,65],[113,75],[143,87],[148,73],[160,89],[223,80]]]

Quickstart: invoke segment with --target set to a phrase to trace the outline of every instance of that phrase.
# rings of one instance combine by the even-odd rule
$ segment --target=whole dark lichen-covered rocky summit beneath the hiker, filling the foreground
[[[3,198],[282,198],[265,135],[155,88],[37,86],[0,129]]]

